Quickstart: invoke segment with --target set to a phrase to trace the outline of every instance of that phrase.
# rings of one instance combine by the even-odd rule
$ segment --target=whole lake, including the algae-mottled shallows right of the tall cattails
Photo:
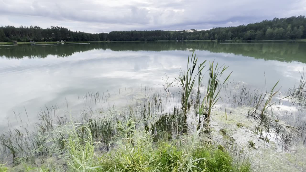
[[[247,144],[250,139],[261,144],[258,133],[251,134],[252,127],[257,127],[255,118],[247,119],[241,114],[247,114],[248,107],[256,104],[252,96],[270,92],[278,81],[275,91],[279,89],[276,95],[279,101],[273,109],[271,107],[272,117],[276,117],[276,122],[281,120],[284,128],[305,130],[305,104],[290,98],[282,101],[292,88],[297,88],[306,67],[305,43],[191,41],[0,46],[0,129],[31,128],[39,122],[37,115],[44,113],[54,113],[55,118],[64,114],[82,115],[88,110],[102,112],[113,107],[122,110],[139,106],[143,99],[149,99],[149,94],[158,92],[156,97],[165,94],[165,85],[187,67],[188,55],[191,56],[193,51],[201,62],[215,61],[229,66],[224,76],[232,72],[225,91],[221,92],[222,100],[216,104],[217,116],[212,117],[211,125],[216,131],[232,131],[231,135],[241,149],[244,148],[242,143]],[[207,69],[205,67],[204,71]],[[171,111],[180,104],[177,101],[180,97],[179,88],[174,86],[170,90],[173,99],[163,108]],[[229,120],[223,115],[225,107]],[[237,122],[239,125],[241,122],[248,132],[243,130],[245,128],[237,129]],[[251,129],[246,125],[252,126]],[[298,139],[288,139],[282,133],[277,141],[279,131],[276,126],[274,128],[275,136],[267,134],[271,141],[269,147],[266,143],[263,144],[264,151],[250,150],[249,154],[255,155],[255,166],[260,166],[267,155],[279,159],[290,155],[300,159],[306,152],[304,133],[300,133]],[[292,143],[295,147],[291,147]],[[299,150],[299,154],[282,153],[291,148]],[[273,165],[271,163],[277,161],[270,160],[270,171],[274,171],[279,164]],[[286,161],[291,162],[290,159]],[[305,169],[305,162],[302,160],[301,163],[293,164],[296,169]],[[283,164],[282,168],[290,169],[291,166]]]

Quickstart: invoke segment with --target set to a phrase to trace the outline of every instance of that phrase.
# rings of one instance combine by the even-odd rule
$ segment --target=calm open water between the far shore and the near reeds
[[[80,111],[88,92],[162,87],[165,73],[172,79],[185,68],[195,50],[200,60],[228,65],[230,80],[249,88],[271,88],[278,80],[282,92],[298,83],[306,67],[306,44],[211,42],[114,42],[0,47],[0,129],[11,118],[29,118],[44,106]],[[121,91],[122,92],[122,91]],[[105,103],[127,106],[131,96]],[[28,117],[26,117],[25,109]],[[16,114],[16,115],[15,115]]]

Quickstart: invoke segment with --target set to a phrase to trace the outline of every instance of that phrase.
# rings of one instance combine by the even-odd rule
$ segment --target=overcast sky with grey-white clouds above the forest
[[[83,32],[237,26],[306,15],[306,0],[0,0],[0,25]]]

